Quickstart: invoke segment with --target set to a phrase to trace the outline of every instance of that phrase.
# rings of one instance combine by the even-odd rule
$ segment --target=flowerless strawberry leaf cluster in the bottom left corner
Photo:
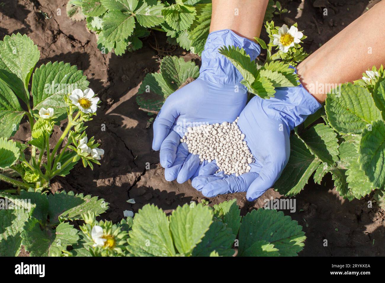
[[[30,189],[20,195],[0,193],[0,198],[7,202],[0,209],[0,256],[17,256],[21,245],[30,256],[68,255],[67,246],[79,242],[80,232],[67,221],[108,209],[103,199],[64,191],[45,195]]]

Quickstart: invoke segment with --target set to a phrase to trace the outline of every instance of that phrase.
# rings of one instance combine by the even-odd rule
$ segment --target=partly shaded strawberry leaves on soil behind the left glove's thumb
[[[160,69],[159,73],[144,77],[136,97],[140,109],[150,115],[161,109],[170,94],[199,76],[199,68],[194,62],[184,62],[176,56],[164,57]]]

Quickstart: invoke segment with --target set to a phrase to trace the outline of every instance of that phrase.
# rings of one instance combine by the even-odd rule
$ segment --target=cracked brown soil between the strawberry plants
[[[290,10],[282,18],[289,17],[298,22],[300,30],[305,30],[308,36],[305,49],[313,52],[375,2],[378,1],[316,0],[314,5],[321,6],[317,8],[313,7],[313,1],[282,0],[283,7]],[[88,124],[89,135],[95,135],[105,150],[102,165],[95,166],[92,171],[84,169],[80,162],[67,178],[52,181],[52,192],[65,189],[104,198],[110,203],[110,209],[103,217],[112,221],[120,220],[124,210],[137,212],[147,203],[154,203],[168,213],[178,205],[200,201],[202,194],[190,183],[164,180],[159,153],[151,149],[152,127],[146,128],[149,116],[138,110],[135,101],[142,79],[146,73],[159,69],[159,59],[163,55],[184,56],[185,60],[194,59],[198,64],[199,57],[181,48],[174,50],[168,46],[161,32],[152,32],[144,40],[143,48],[135,53],[121,57],[103,55],[85,23],[73,22],[67,17],[66,3],[66,0],[0,0],[0,39],[6,34],[26,33],[39,47],[41,60],[38,67],[57,60],[77,65],[84,70],[90,87],[103,101],[98,115]],[[323,16],[323,6],[328,8],[328,16]],[[61,9],[61,15],[57,15],[58,9]],[[52,18],[45,18],[42,12]],[[275,21],[278,25],[283,23],[279,16],[275,17]],[[152,49],[150,45],[155,46],[156,42],[161,49],[172,51],[164,53]],[[102,124],[105,124],[106,131],[101,131]],[[28,124],[24,122],[15,139],[25,141],[28,131]],[[57,139],[60,133],[58,127],[53,138]],[[146,169],[147,162],[150,169]],[[306,232],[305,248],[300,255],[384,256],[384,211],[375,205],[368,208],[368,201],[372,199],[370,196],[359,201],[344,201],[332,184],[331,178],[320,186],[308,184],[296,196],[296,212],[284,211],[297,220]],[[263,200],[271,196],[281,197],[269,189],[253,203],[246,201],[245,193],[208,200],[213,205],[237,198],[245,214],[263,206]],[[136,204],[127,203],[129,198],[134,198]],[[328,240],[326,247],[323,246],[324,239]]]

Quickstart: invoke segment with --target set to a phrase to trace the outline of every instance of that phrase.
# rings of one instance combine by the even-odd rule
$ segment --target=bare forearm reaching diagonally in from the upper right
[[[311,86],[351,82],[385,63],[384,15],[381,1],[298,65],[302,84],[318,102],[325,101],[328,90],[312,91]]]

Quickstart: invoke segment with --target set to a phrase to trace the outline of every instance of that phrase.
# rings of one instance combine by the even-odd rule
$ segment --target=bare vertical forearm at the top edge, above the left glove
[[[254,41],[259,37],[268,0],[213,0],[210,32],[230,29]]]

